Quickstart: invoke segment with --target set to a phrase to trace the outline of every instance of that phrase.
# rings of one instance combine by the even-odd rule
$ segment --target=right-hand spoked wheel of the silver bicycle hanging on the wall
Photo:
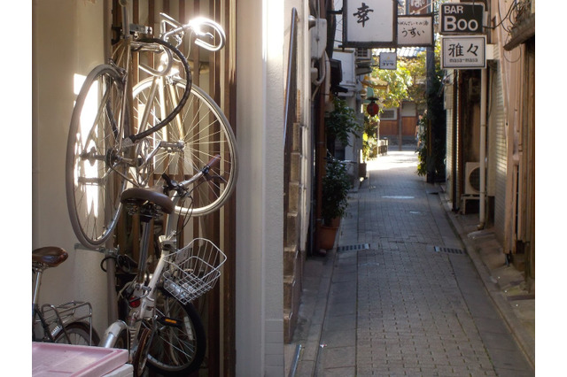
[[[185,88],[184,82],[174,79],[159,96],[151,95],[151,79],[136,85],[133,92],[135,124],[144,129],[158,123],[161,114],[176,103],[175,98]],[[236,138],[221,108],[196,85],[191,86],[191,96],[178,116],[138,147],[137,155],[144,159],[138,169],[138,179],[143,183],[156,183],[162,173],[175,181],[186,180],[205,167],[211,158],[221,156],[219,164],[211,169],[209,179],[196,182],[190,188],[190,200],[177,205],[175,211],[180,214],[201,216],[214,212],[235,188]]]

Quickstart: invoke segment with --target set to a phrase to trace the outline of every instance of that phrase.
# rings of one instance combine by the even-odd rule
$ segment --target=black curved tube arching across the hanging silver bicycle
[[[178,103],[175,104],[173,110],[171,110],[171,112],[169,112],[164,119],[160,119],[159,123],[152,125],[151,127],[144,127],[143,129],[138,129],[135,135],[128,136],[132,140],[132,142],[138,142],[144,139],[144,137],[153,134],[154,132],[165,127],[169,122],[171,122],[175,118],[175,116],[177,116],[177,114],[182,111],[183,105],[187,102],[187,99],[190,96],[190,89],[192,82],[190,65],[189,62],[187,61],[187,58],[185,58],[183,53],[180,50],[177,50],[177,48],[175,48],[171,43],[163,41],[158,38],[142,38],[137,42],[142,42],[146,44],[151,44],[151,43],[159,44],[164,48],[166,48],[167,50],[173,52],[175,54],[177,61],[181,63],[181,65],[183,66],[183,72],[185,73],[185,88],[183,90],[183,95],[179,97]]]

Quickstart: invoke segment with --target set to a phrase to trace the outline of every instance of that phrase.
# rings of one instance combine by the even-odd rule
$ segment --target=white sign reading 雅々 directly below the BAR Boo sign
[[[441,38],[441,68],[486,67],[486,36],[462,35]]]

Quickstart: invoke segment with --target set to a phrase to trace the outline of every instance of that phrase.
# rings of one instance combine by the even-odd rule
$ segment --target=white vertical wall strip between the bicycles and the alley
[[[283,375],[283,2],[237,2],[237,375]],[[289,17],[289,16],[288,16]]]

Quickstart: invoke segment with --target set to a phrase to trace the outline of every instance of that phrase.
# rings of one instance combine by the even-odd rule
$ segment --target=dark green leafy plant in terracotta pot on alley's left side
[[[322,178],[321,249],[332,249],[340,219],[345,217],[348,207],[348,190],[352,181],[346,172],[346,164],[337,158],[327,158],[325,175]]]

